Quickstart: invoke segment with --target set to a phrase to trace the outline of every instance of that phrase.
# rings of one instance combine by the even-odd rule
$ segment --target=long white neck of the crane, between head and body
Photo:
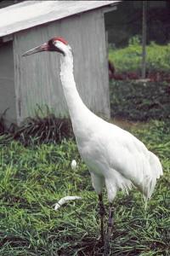
[[[77,92],[76,83],[73,75],[73,56],[71,49],[65,52],[60,59],[60,79],[63,85],[65,99],[69,108],[73,129],[80,125],[86,116],[89,116],[89,109],[82,102]]]

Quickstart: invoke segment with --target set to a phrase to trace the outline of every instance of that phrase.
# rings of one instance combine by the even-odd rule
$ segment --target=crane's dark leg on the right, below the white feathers
[[[111,239],[111,231],[112,231],[112,227],[113,227],[113,210],[114,210],[114,208],[110,204],[107,234],[106,234],[106,237],[105,237],[104,256],[110,255],[110,250],[111,250],[110,239]]]

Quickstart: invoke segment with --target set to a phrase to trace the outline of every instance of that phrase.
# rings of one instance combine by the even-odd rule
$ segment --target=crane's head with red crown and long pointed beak
[[[23,56],[32,55],[41,51],[56,51],[65,55],[65,52],[70,49],[69,44],[64,38],[51,38],[48,42],[41,44],[33,49],[26,51]]]

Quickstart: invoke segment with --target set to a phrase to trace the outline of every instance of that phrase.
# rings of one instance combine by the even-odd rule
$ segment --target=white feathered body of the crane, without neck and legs
[[[118,189],[127,191],[137,187],[146,199],[150,198],[156,186],[156,178],[162,175],[159,159],[144,143],[131,133],[116,125],[96,119],[94,131],[88,131],[86,141],[77,145],[90,172],[93,172],[94,189],[99,194],[97,177],[105,179],[109,201],[113,201]],[[88,127],[87,127],[88,130]],[[87,131],[86,130],[86,131]],[[98,187],[95,187],[95,177]],[[99,178],[98,178],[99,181]]]

